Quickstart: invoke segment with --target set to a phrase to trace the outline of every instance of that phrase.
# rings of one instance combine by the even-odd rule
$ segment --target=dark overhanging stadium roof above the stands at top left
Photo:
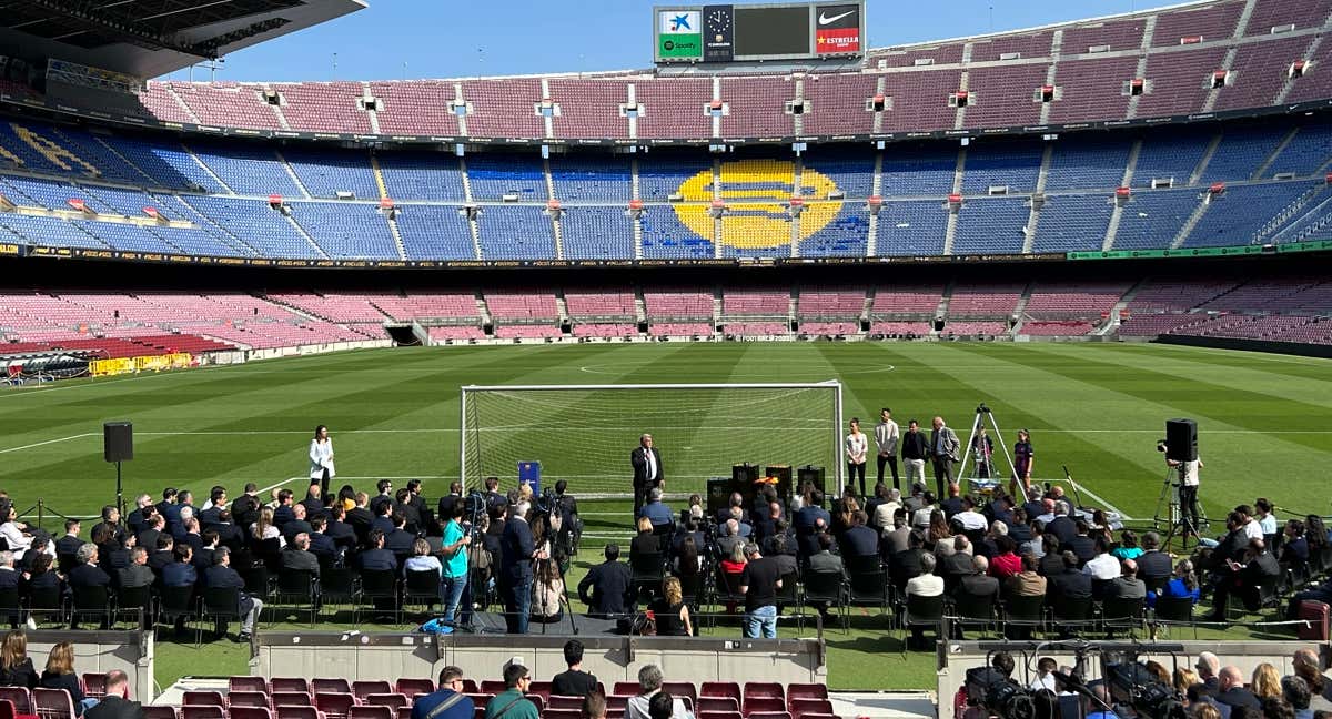
[[[156,77],[365,8],[362,0],[0,0],[0,55]]]

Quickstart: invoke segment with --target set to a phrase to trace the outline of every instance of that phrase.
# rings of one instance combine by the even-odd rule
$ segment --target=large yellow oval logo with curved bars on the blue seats
[[[735,160],[722,162],[722,192],[727,210],[722,216],[722,237],[725,245],[733,248],[777,248],[805,240],[826,228],[842,209],[838,200],[827,200],[829,193],[838,189],[829,176],[805,168],[801,172],[801,197],[805,197],[805,212],[801,214],[801,234],[791,236],[791,217],[785,202],[795,194],[795,164],[786,160]],[[675,205],[675,216],[697,234],[715,241],[713,237],[713,217],[706,202],[713,200],[713,170],[706,169],[685,180],[679,194],[685,202]]]

